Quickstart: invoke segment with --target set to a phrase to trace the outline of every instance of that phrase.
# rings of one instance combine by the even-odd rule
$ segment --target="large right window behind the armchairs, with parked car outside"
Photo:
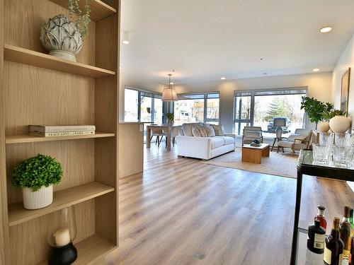
[[[285,117],[283,136],[304,125],[304,111],[300,110],[301,98],[307,88],[277,90],[235,91],[234,132],[241,135],[244,126],[260,126],[263,136],[275,136],[274,117]]]

